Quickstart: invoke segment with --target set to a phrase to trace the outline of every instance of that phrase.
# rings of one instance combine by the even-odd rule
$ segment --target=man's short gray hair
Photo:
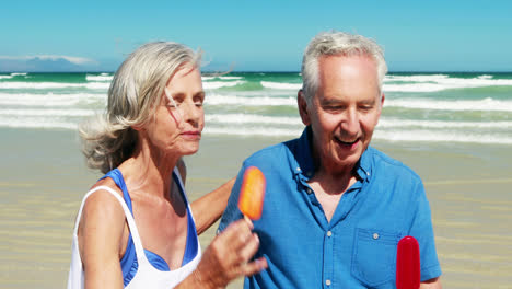
[[[336,31],[322,32],[310,42],[302,59],[302,90],[307,102],[316,94],[319,85],[319,57],[334,55],[366,55],[372,57],[377,66],[379,89],[382,90],[384,76],[387,73],[387,65],[381,46],[361,35]]]

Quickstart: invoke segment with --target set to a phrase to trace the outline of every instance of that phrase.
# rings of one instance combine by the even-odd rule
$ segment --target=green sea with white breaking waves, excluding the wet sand
[[[0,74],[0,127],[77,129],[112,73]],[[206,135],[298,136],[298,72],[203,76]],[[512,144],[512,73],[389,73],[374,139]]]

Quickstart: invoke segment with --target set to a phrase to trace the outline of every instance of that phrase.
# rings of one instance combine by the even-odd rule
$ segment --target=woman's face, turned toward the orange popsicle
[[[185,65],[167,82],[154,120],[144,127],[153,149],[179,157],[196,153],[205,127],[203,101],[200,71]]]

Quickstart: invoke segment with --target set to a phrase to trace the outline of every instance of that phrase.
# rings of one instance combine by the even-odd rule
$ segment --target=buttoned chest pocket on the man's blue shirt
[[[397,233],[356,229],[352,276],[369,287],[394,280],[399,238]]]

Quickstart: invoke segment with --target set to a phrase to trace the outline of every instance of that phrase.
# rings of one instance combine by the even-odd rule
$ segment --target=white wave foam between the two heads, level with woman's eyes
[[[296,106],[295,97],[243,97],[211,94],[205,99],[206,105],[247,105],[247,106]]]

